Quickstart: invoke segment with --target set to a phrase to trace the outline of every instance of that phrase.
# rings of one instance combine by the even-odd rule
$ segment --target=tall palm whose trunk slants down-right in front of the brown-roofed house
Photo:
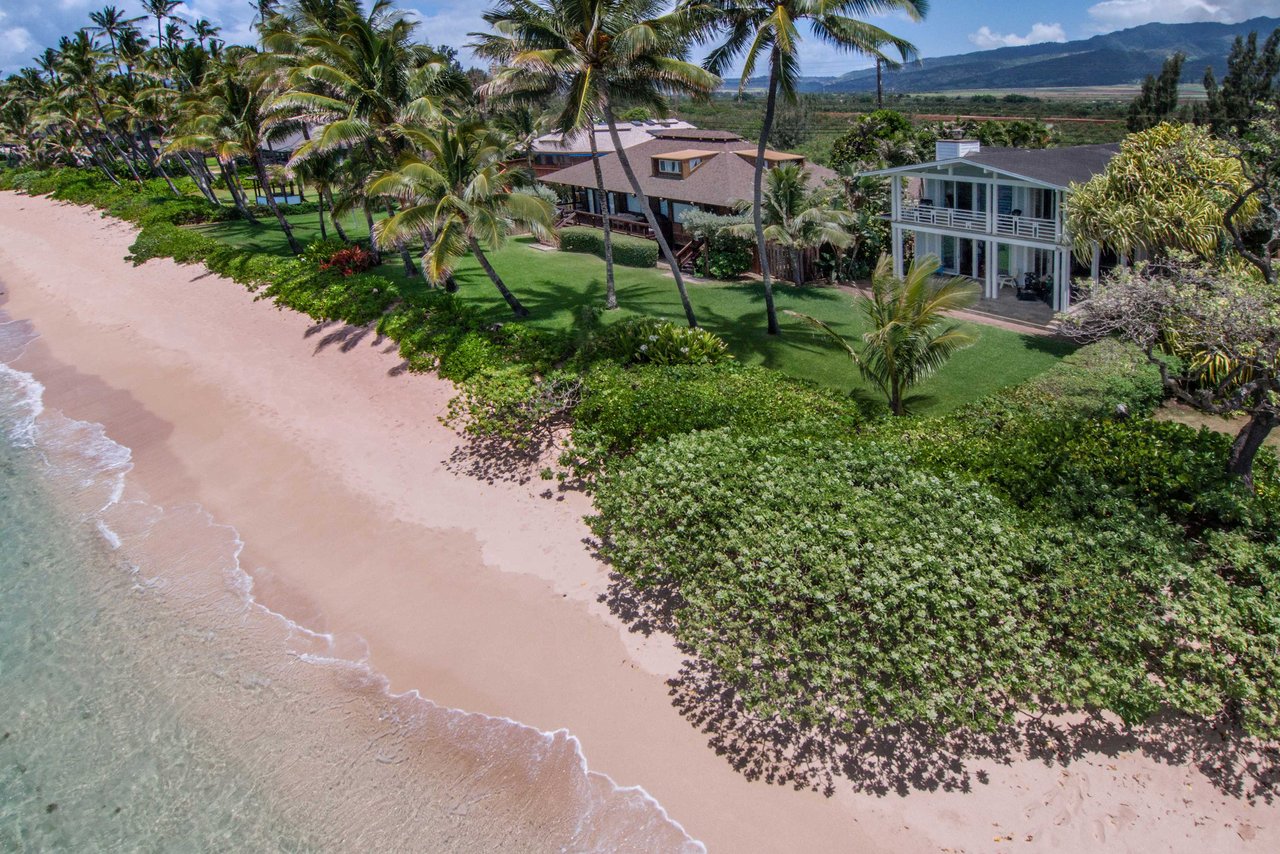
[[[485,13],[493,32],[471,35],[479,55],[506,65],[489,92],[562,99],[557,129],[585,129],[593,141],[595,123],[605,122],[613,156],[671,268],[685,318],[696,326],[680,264],[622,147],[614,109],[622,102],[666,115],[668,93],[704,95],[719,85],[685,61],[687,40],[676,19],[660,17],[663,8],[662,0],[499,0]]]

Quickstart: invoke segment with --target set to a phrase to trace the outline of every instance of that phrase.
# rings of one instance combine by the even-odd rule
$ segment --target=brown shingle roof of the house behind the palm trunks
[[[717,140],[700,138],[699,149],[712,155],[704,155],[701,165],[689,175],[653,174],[652,160],[655,156],[669,156],[682,154],[689,150],[689,137],[671,136],[684,134],[685,131],[664,131],[650,142],[643,142],[627,149],[627,159],[640,179],[640,187],[646,195],[657,198],[671,198],[694,205],[707,205],[712,207],[731,207],[736,201],[751,197],[751,178],[755,172],[753,163],[745,157],[736,156],[735,152],[742,150],[746,142],[736,133],[727,131],[696,131],[696,133],[719,134]],[[754,155],[751,157],[754,160]],[[836,173],[826,166],[813,165],[809,169],[809,183],[822,184],[824,181],[836,177]],[[616,155],[600,157],[600,172],[604,174],[604,188],[609,192],[630,193],[631,182],[622,172],[622,164]],[[595,187],[595,168],[590,159],[566,166],[548,175],[541,181],[552,184],[567,184],[570,187]]]

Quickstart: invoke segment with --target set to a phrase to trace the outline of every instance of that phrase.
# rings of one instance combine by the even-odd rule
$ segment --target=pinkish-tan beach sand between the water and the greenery
[[[585,495],[460,456],[439,421],[452,387],[403,371],[390,342],[198,266],[133,268],[133,233],[0,193],[0,300],[40,334],[14,366],[129,447],[150,501],[234,526],[259,600],[367,648],[393,690],[567,729],[713,851],[1274,850],[1276,805],[1105,735],[1069,764],[974,761],[968,790],[749,780],[673,707],[669,640],[599,602]]]

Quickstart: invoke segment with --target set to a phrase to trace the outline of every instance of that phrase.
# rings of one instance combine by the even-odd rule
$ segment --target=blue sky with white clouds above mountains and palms
[[[31,58],[58,37],[88,22],[88,13],[108,0],[0,0],[0,72],[29,64]],[[141,14],[138,0],[114,0]],[[485,0],[402,0],[421,19],[424,40],[462,47],[467,32],[481,27]],[[248,0],[188,0],[179,6],[188,20],[209,18],[232,41],[250,41],[252,10]],[[915,42],[923,56],[972,50],[1085,38],[1152,20],[1236,22],[1258,15],[1280,17],[1280,0],[933,0],[923,23],[905,18],[877,23]],[[865,65],[824,45],[810,42],[801,68],[810,76],[837,76]]]

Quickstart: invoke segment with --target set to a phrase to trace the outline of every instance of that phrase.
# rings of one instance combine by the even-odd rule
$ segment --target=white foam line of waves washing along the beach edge
[[[608,775],[593,771],[586,761],[582,744],[568,730],[543,731],[506,717],[493,717],[439,705],[416,689],[394,694],[388,680],[375,672],[367,656],[339,654],[338,639],[300,625],[284,615],[260,603],[253,594],[253,577],[241,566],[243,540],[230,526],[218,524],[198,506],[165,511],[141,501],[125,501],[128,474],[133,467],[129,449],[106,434],[99,424],[77,421],[58,411],[46,411],[44,385],[31,374],[13,369],[8,362],[18,357],[35,338],[29,324],[5,321],[0,315],[0,424],[8,428],[10,443],[32,448],[55,480],[77,494],[77,504],[86,521],[99,531],[111,549],[122,549],[128,542],[146,539],[161,521],[180,513],[189,524],[202,525],[211,531],[221,531],[230,539],[230,553],[225,556],[225,586],[239,598],[246,611],[252,611],[275,621],[289,636],[303,639],[306,649],[282,649],[294,661],[311,667],[346,671],[358,681],[376,685],[396,703],[404,703],[410,714],[420,720],[443,716],[449,732],[466,732],[475,737],[500,737],[511,750],[527,750],[531,763],[550,762],[562,750],[568,750],[576,766],[575,789],[585,786],[590,793],[586,805],[576,816],[571,841],[564,850],[617,850],[648,848],[645,840],[627,836],[645,827],[666,827],[681,840],[673,848],[685,851],[705,851],[684,827],[641,786],[618,785]],[[161,577],[148,577],[147,568],[132,565],[136,584],[142,589],[163,588]],[[360,644],[364,641],[360,640]],[[349,644],[348,644],[349,645]],[[343,650],[346,653],[347,650]],[[247,679],[253,679],[248,676]],[[247,685],[262,688],[265,685]],[[532,743],[529,739],[532,737]],[[534,746],[530,746],[534,745]],[[536,745],[540,745],[536,746]],[[515,758],[515,757],[512,757]],[[531,776],[536,776],[532,772]],[[669,835],[669,834],[668,834]]]

